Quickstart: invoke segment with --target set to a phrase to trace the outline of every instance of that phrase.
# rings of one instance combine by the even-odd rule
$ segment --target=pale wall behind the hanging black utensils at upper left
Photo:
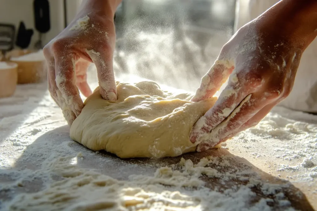
[[[42,43],[45,45],[64,29],[64,5],[63,0],[49,0],[51,29],[48,33],[43,34]],[[69,23],[75,16],[78,8],[76,0],[67,1]],[[18,30],[20,21],[23,21],[26,28],[33,28],[29,48],[34,48],[34,44],[38,40],[38,32],[34,28],[33,0],[1,0],[0,1],[0,22],[10,23],[16,26]]]

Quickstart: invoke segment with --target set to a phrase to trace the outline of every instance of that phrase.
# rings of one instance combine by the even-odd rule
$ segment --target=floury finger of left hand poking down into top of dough
[[[110,48],[109,48],[110,49]],[[105,100],[117,100],[117,87],[113,74],[113,52],[87,50],[97,68],[100,94]]]

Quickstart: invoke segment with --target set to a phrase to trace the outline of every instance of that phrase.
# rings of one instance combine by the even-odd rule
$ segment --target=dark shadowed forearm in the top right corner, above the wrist
[[[296,42],[303,50],[317,35],[316,0],[281,0],[259,17],[262,18],[275,33]]]

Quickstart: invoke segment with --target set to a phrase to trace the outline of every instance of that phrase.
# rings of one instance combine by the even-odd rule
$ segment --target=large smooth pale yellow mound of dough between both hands
[[[94,151],[120,158],[175,157],[193,152],[194,123],[217,98],[190,102],[190,93],[163,91],[152,81],[117,82],[117,101],[104,100],[97,88],[70,127],[70,137]]]

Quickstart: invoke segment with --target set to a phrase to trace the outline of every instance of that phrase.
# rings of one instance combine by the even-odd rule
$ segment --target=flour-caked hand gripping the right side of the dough
[[[285,2],[278,6],[285,9]],[[274,9],[237,31],[202,78],[193,102],[213,96],[230,76],[216,104],[191,131],[198,152],[255,126],[290,93],[301,55],[316,33],[300,36],[303,30],[293,30],[283,21],[279,25]]]

